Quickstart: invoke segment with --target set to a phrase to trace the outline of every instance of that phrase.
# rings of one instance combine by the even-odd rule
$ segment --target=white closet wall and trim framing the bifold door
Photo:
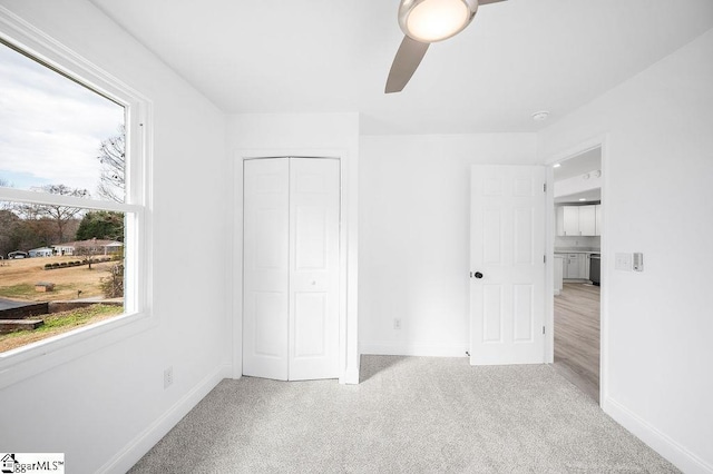
[[[237,113],[228,118],[227,147],[231,157],[233,184],[234,268],[233,313],[241,322],[242,298],[242,162],[245,157],[266,156],[330,156],[341,159],[342,248],[346,248],[346,282],[341,297],[346,303],[345,327],[341,327],[345,352],[340,361],[343,383],[359,382],[358,353],[358,167],[359,115],[358,113]],[[242,328],[234,327],[234,376],[242,373]]]

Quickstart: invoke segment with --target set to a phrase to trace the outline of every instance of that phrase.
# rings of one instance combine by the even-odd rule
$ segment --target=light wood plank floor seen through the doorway
[[[555,296],[555,368],[599,401],[599,287],[565,283]]]

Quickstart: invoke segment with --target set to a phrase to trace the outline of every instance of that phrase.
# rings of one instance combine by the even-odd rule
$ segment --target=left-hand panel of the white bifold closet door
[[[243,374],[289,378],[290,161],[244,161]]]

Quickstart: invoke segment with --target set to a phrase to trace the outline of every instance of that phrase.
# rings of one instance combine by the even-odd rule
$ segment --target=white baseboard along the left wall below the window
[[[215,386],[224,378],[229,378],[231,366],[221,365],[201,381],[191,392],[176,402],[158,419],[152,423],[144,432],[139,433],[121,451],[111,457],[97,472],[99,473],[126,473],[148,451],[160,441],[162,437],[188,414]]]

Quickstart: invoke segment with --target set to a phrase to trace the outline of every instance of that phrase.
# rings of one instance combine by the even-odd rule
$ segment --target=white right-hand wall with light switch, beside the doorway
[[[544,159],[606,137],[603,407],[691,473],[713,472],[712,58],[710,30],[538,137]]]

